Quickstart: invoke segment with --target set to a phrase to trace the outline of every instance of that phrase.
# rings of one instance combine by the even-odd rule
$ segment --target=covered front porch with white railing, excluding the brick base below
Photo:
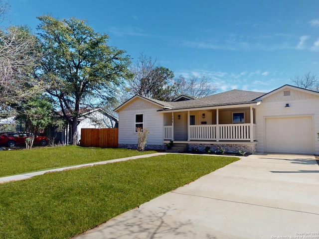
[[[255,108],[224,106],[164,113],[164,140],[257,140]]]

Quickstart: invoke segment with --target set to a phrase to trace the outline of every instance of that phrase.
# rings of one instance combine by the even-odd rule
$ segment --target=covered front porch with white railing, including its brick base
[[[187,144],[188,150],[215,151],[223,147],[236,153],[257,152],[257,124],[253,105],[224,106],[164,113],[164,144]]]

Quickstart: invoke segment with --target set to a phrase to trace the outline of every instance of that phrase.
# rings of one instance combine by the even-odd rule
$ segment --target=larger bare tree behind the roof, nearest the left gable
[[[160,101],[169,101],[174,98],[174,73],[160,66],[152,57],[142,53],[130,69],[134,76],[127,81],[124,100],[134,95],[142,95]]]

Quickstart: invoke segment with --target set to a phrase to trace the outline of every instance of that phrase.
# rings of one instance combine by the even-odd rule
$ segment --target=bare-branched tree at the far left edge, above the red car
[[[0,0],[0,109],[41,92],[34,80],[40,58],[38,39],[26,26],[2,26],[8,4]]]

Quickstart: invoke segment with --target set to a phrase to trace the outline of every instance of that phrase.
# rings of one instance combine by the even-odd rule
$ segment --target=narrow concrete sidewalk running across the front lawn
[[[127,158],[119,158],[119,159],[113,159],[113,160],[107,160],[107,161],[101,161],[101,162],[95,162],[95,163],[86,163],[86,164],[74,165],[74,166],[69,166],[69,167],[62,167],[62,168],[48,169],[48,170],[37,171],[37,172],[16,174],[16,175],[0,178],[0,184],[12,182],[12,181],[24,180],[24,179],[32,178],[36,175],[42,175],[42,174],[49,173],[49,172],[61,172],[64,170],[83,168],[83,167],[91,167],[94,165],[102,165],[102,164],[108,164],[108,163],[116,163],[116,162],[137,159],[137,158],[148,158],[148,157],[158,156],[161,154],[164,154],[164,153],[143,154],[143,155],[137,155],[137,156],[127,157]]]

